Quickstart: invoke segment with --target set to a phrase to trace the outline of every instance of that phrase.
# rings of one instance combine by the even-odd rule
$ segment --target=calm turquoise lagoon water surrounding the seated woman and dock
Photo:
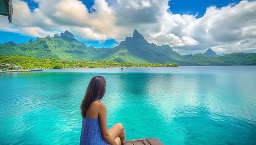
[[[164,144],[256,144],[256,67],[45,70],[0,74],[0,144],[78,144],[79,105],[102,75],[108,125]]]

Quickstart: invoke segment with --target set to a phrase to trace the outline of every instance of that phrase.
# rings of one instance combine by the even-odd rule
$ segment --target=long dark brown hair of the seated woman
[[[101,100],[106,92],[106,80],[103,76],[94,76],[87,87],[81,103],[81,115],[86,118],[86,111],[92,102]]]

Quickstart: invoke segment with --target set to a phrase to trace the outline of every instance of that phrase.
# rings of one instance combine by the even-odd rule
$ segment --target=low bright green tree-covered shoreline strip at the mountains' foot
[[[177,64],[129,63],[115,61],[60,61],[54,58],[36,59],[35,57],[0,55],[0,64],[21,66],[23,69],[55,69],[55,68],[101,68],[101,67],[176,67]]]

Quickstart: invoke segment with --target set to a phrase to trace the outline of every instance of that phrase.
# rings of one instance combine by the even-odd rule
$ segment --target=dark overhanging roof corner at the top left
[[[8,16],[9,22],[12,22],[12,0],[0,0],[0,15]]]

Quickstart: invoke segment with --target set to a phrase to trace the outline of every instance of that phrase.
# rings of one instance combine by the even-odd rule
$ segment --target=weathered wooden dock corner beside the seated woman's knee
[[[126,141],[123,145],[163,145],[157,138],[143,138]]]

